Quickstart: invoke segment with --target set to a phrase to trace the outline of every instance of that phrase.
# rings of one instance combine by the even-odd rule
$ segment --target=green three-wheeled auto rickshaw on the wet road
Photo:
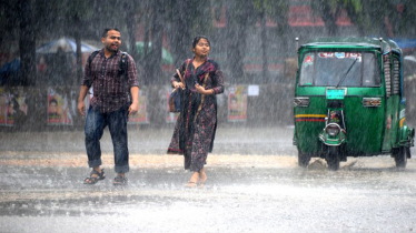
[[[298,48],[294,144],[298,163],[390,154],[406,168],[414,129],[406,125],[403,54],[392,40],[321,38]]]

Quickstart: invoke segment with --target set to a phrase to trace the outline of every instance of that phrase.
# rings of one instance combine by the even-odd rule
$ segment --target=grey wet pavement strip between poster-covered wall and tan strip
[[[165,155],[174,125],[166,129],[129,129],[130,154]],[[0,155],[4,152],[40,152],[47,154],[85,154],[83,131],[2,132]],[[217,130],[212,154],[296,155],[291,144],[293,128],[221,128]],[[112,153],[108,130],[101,139],[102,153]]]

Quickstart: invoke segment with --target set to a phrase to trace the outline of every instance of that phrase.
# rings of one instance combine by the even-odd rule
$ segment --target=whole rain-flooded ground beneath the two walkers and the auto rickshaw
[[[386,155],[348,158],[337,172],[315,159],[300,169],[291,135],[285,136],[290,131],[219,131],[207,183],[191,190],[184,188],[190,173],[182,158],[164,154],[170,131],[148,132],[147,141],[130,133],[130,144],[139,145],[130,145],[123,188],[112,185],[108,139],[107,179],[89,186],[82,184],[89,171],[79,133],[42,134],[43,144],[36,143],[41,135],[26,134],[14,150],[9,136],[24,136],[2,134],[0,232],[416,231],[415,159],[405,171]],[[71,146],[59,144],[63,138]]]

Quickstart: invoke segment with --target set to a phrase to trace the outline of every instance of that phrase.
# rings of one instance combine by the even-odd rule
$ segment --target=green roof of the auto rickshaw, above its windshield
[[[390,39],[378,38],[316,38],[308,43],[300,45],[300,49],[378,49],[383,53],[392,50],[402,53],[397,43]]]

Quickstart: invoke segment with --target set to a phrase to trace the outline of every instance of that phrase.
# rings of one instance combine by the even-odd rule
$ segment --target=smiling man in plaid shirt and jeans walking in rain
[[[85,69],[85,77],[78,99],[78,111],[85,116],[83,99],[92,87],[93,97],[86,120],[86,148],[88,165],[92,168],[85,184],[95,184],[103,180],[100,168],[100,139],[108,125],[115,153],[115,185],[127,184],[129,171],[129,151],[127,146],[128,116],[136,113],[139,105],[139,83],[133,59],[119,50],[120,31],[116,28],[105,29],[101,38],[103,48],[93,52]]]

